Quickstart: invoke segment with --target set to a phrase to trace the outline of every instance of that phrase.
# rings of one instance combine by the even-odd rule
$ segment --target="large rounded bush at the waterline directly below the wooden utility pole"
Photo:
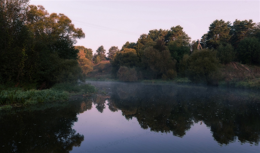
[[[187,59],[186,75],[193,82],[218,84],[220,79],[219,67],[216,52],[202,49],[195,51]]]

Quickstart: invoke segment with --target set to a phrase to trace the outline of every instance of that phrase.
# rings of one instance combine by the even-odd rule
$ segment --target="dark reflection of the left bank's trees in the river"
[[[72,129],[77,114],[91,108],[91,99],[83,99],[1,112],[1,152],[70,152],[84,140]]]

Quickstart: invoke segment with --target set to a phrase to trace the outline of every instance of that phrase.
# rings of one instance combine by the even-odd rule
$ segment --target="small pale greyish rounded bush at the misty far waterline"
[[[135,82],[137,81],[137,73],[135,68],[129,68],[126,66],[121,66],[117,72],[117,77],[120,81],[129,81]]]

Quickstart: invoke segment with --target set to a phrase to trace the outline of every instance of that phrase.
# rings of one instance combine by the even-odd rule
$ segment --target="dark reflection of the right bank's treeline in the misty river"
[[[220,145],[236,139],[259,145],[259,92],[167,84],[103,83],[104,86],[112,92],[109,109],[121,110],[127,120],[137,118],[143,129],[184,137],[194,123],[204,122]]]

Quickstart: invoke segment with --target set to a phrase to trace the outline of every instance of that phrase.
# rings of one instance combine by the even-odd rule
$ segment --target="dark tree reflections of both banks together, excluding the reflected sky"
[[[1,112],[1,152],[70,152],[84,141],[84,136],[72,128],[75,122],[86,122],[78,121],[77,115],[93,108],[98,114],[107,110],[122,112],[126,120],[136,118],[141,128],[172,137],[185,137],[193,125],[204,123],[220,145],[237,140],[259,145],[259,92],[169,84],[91,83],[107,88],[109,94]],[[91,140],[97,137],[90,136],[92,133],[88,137]]]

